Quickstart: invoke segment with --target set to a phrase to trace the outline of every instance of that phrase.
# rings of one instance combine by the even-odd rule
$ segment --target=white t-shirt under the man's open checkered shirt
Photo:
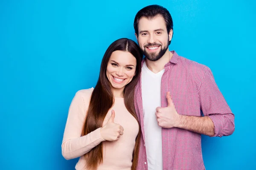
[[[144,117],[145,147],[148,170],[163,170],[162,127],[157,124],[156,108],[161,107],[161,79],[164,69],[157,74],[143,63],[142,101]]]

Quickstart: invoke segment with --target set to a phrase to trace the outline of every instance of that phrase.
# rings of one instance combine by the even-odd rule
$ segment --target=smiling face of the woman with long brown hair
[[[127,51],[114,51],[108,61],[106,75],[112,90],[123,90],[136,71],[136,58]]]

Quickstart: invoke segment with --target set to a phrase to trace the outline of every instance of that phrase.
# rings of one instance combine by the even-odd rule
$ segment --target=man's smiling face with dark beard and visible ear
[[[172,30],[167,32],[166,22],[161,15],[152,19],[142,17],[138,23],[138,35],[135,35],[145,57],[150,61],[160,59],[172,40]]]

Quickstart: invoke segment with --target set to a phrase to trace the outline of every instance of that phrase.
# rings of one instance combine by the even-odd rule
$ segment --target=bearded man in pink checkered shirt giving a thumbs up
[[[233,113],[207,66],[169,51],[173,22],[166,8],[141,9],[134,29],[145,55],[134,96],[142,130],[137,169],[205,170],[201,134],[231,135]]]

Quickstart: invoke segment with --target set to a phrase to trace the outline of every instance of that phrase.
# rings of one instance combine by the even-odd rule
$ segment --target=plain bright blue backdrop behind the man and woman
[[[255,0],[1,0],[1,170],[74,169],[78,159],[61,155],[70,102],[96,84],[111,42],[136,40],[135,14],[155,3],[173,17],[169,49],[211,68],[235,114],[232,136],[203,136],[205,167],[255,168]]]

